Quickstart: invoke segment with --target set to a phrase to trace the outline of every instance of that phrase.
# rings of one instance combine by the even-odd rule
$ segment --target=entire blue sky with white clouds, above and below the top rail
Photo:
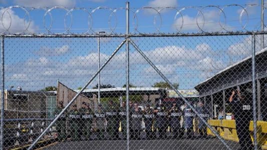
[[[130,32],[133,34],[260,30],[260,7],[249,5],[259,4],[260,0],[234,0],[235,4],[240,4],[235,6],[229,5],[233,0],[129,2]],[[125,0],[0,0],[1,7],[13,5],[23,8],[0,9],[0,33],[7,28],[9,32],[5,33],[26,34],[95,34],[99,31],[123,34],[126,31]],[[207,5],[214,6],[205,7]],[[245,11],[242,7],[246,7]],[[101,64],[123,39],[100,39]],[[250,55],[251,50],[251,37],[246,35],[134,37],[132,40],[171,82],[179,83],[180,89],[193,88]],[[74,89],[83,86],[98,68],[97,41],[97,38],[5,38],[5,88],[22,86],[25,90],[39,90],[56,86],[57,80]],[[259,43],[259,37],[256,42]],[[256,50],[260,50],[258,44]],[[123,45],[101,71],[101,83],[122,87],[125,66]],[[88,88],[97,81],[95,78]],[[130,82],[150,87],[158,81],[162,78],[130,46]]]

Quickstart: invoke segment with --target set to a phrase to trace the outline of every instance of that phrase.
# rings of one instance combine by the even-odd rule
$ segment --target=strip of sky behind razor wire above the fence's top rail
[[[216,7],[206,7],[202,9],[202,13],[197,15],[197,9],[201,9],[200,6],[207,5],[218,5],[220,8],[223,8],[225,5],[229,5],[232,3],[240,4],[243,7],[246,7],[246,4],[259,4],[260,0],[129,0],[130,2],[130,27],[131,32],[136,32],[135,25],[138,19],[138,30],[140,32],[155,32],[156,27],[159,27],[161,23],[161,32],[177,32],[180,31],[179,27],[182,24],[183,18],[183,29],[185,32],[197,31],[198,27],[196,26],[196,20],[198,20],[199,25],[202,26],[203,20],[205,19],[205,24],[203,29],[212,30],[212,31],[220,31],[220,27],[218,22],[221,22],[221,25],[224,25],[228,30],[241,30],[241,26],[246,25],[247,29],[260,29],[260,7],[253,6],[248,7],[246,12],[242,13],[241,23],[239,23],[240,11],[242,8],[240,6],[229,6],[224,8],[224,14],[219,14],[219,9]],[[29,21],[28,14],[20,8],[9,9],[11,16],[14,17],[12,21],[10,21],[10,15],[5,13],[4,15],[4,27],[8,28],[11,24],[11,30],[23,31],[24,20],[25,18],[26,26],[29,25],[28,31],[32,32],[45,32],[45,27],[49,27],[52,25],[52,32],[63,32],[64,28],[68,28],[71,24],[71,15],[73,15],[73,21],[71,26],[72,32],[85,32],[87,31],[89,26],[92,26],[95,32],[97,31],[106,31],[110,32],[110,28],[114,29],[116,33],[125,33],[125,9],[117,9],[116,12],[111,13],[115,8],[126,7],[125,0],[0,0],[0,4],[3,7],[12,6],[12,5],[20,5],[24,7],[53,7],[53,6],[65,6],[69,9],[73,7],[82,7],[86,8],[84,10],[74,10],[72,13],[66,12],[68,10],[65,9],[53,9],[50,11],[51,17],[53,21],[50,19],[49,13],[45,12],[43,9],[34,9],[31,10],[27,8],[29,11],[29,15],[31,16],[31,23]],[[188,8],[185,10],[181,10],[181,13],[176,14],[177,10],[175,9],[164,9],[159,13],[156,13],[153,9],[139,9],[138,8],[151,6],[151,7],[175,7],[177,10],[181,10],[183,7],[188,6],[196,6],[197,8]],[[108,7],[111,9],[96,9],[97,7]],[[159,9],[159,8],[157,8]],[[2,10],[4,11],[4,10]],[[266,10],[265,10],[266,11]],[[3,12],[2,12],[3,13]],[[91,15],[88,15],[90,13]],[[136,14],[136,15],[134,15]],[[44,16],[45,15],[45,16]],[[66,16],[65,16],[66,15]],[[224,18],[225,15],[225,18]],[[136,16],[136,17],[135,17]],[[162,21],[160,21],[160,16]],[[183,17],[182,17],[183,16]],[[6,18],[6,19],[5,19]],[[65,24],[64,26],[64,18]],[[137,18],[137,19],[136,19]],[[155,19],[155,20],[154,20]],[[43,22],[45,20],[45,23]],[[252,20],[248,21],[247,20]],[[266,19],[265,19],[266,20]],[[117,23],[115,25],[115,22]],[[211,22],[211,23],[210,23]],[[217,24],[214,24],[214,23]],[[225,22],[225,24],[224,24]],[[155,23],[155,24],[153,24]],[[0,23],[0,31],[3,30],[3,25]],[[45,26],[44,26],[45,24]],[[176,27],[175,27],[176,24]],[[192,25],[194,24],[194,25]],[[211,27],[213,26],[213,27]],[[214,27],[218,26],[218,27]],[[177,30],[177,29],[178,30]],[[89,31],[93,33],[92,30]]]

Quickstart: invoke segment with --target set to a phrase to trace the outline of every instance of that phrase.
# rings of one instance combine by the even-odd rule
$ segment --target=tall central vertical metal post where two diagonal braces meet
[[[127,150],[130,148],[130,135],[129,135],[129,1],[126,2],[126,114],[127,114],[127,125],[126,125],[126,134],[127,134]]]

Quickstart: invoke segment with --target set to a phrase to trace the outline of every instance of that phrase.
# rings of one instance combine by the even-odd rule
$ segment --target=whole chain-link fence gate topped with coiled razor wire
[[[248,7],[259,5],[186,9],[201,18],[215,7],[226,19],[232,6],[248,17]],[[206,32],[196,19],[201,32],[182,33],[190,25],[183,24],[185,8],[168,8],[182,16],[178,33],[160,33],[156,24],[158,34],[143,34],[138,25],[137,33],[126,34],[114,34],[115,27],[96,32],[93,25],[60,34],[48,25],[48,33],[32,34],[28,18],[22,31],[3,23],[5,15],[12,19],[12,8],[29,17],[37,9],[2,12],[3,149],[267,148],[265,31],[230,32],[219,21],[213,25],[224,32]],[[125,10],[53,7],[44,16],[52,18],[57,8],[65,17],[88,12],[88,20],[101,9],[111,11],[109,19]],[[133,18],[146,9],[159,19],[167,8],[139,8]],[[128,26],[133,10],[126,10]]]

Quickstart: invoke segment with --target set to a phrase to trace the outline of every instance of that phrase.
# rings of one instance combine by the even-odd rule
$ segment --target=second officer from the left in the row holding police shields
[[[77,105],[74,104],[72,106],[72,110],[69,112],[70,119],[70,128],[71,128],[71,136],[75,141],[79,140],[79,122],[80,122],[80,112],[77,109]]]

